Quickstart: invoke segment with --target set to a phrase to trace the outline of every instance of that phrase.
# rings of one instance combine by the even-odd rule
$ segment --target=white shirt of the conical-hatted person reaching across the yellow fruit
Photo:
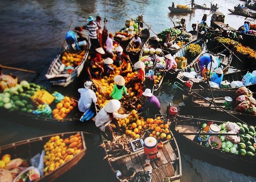
[[[113,118],[126,118],[129,114],[118,114],[117,112],[113,112]],[[105,127],[112,121],[108,112],[105,111],[103,107],[98,114],[94,117],[95,125],[101,130],[105,131]]]

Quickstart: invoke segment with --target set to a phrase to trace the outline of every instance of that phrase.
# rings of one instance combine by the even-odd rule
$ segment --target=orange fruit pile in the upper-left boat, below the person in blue
[[[61,57],[61,62],[65,64],[65,66],[76,67],[82,62],[84,54],[85,51],[82,51],[79,54],[71,54],[70,52],[64,52]]]

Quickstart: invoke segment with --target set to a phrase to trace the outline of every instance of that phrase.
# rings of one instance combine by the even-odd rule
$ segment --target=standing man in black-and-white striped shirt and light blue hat
[[[91,50],[94,51],[96,48],[100,47],[99,44],[99,31],[98,31],[98,26],[94,22],[94,19],[92,16],[89,16],[87,19],[87,23],[85,23],[82,27],[83,29],[89,30],[89,38],[91,41]]]

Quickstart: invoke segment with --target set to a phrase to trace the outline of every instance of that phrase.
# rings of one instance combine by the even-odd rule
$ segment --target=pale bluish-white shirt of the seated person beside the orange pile
[[[97,102],[97,96],[90,88],[79,88],[78,92],[80,93],[78,109],[81,112],[86,112],[91,107],[92,102]]]

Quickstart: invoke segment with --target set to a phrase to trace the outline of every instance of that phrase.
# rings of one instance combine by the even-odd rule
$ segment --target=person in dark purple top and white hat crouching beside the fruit
[[[151,93],[149,88],[146,88],[142,95],[145,96],[146,102],[142,104],[142,108],[140,108],[138,112],[149,110],[150,117],[154,118],[161,109],[158,98]]]

